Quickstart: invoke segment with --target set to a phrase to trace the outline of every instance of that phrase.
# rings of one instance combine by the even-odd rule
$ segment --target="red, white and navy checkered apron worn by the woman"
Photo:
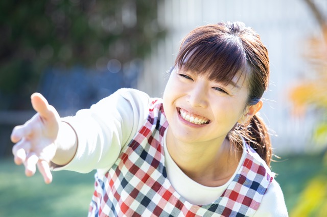
[[[273,174],[250,147],[236,177],[214,203],[193,205],[167,179],[162,137],[168,123],[161,100],[152,102],[144,126],[105,174],[96,174],[89,216],[251,216]]]

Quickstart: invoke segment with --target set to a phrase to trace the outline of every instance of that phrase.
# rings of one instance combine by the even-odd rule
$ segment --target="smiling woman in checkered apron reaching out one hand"
[[[11,139],[16,164],[45,182],[51,169],[97,169],[89,216],[287,216],[256,113],[268,52],[241,22],[206,25],[183,40],[164,96],[121,89],[60,118],[38,112]]]

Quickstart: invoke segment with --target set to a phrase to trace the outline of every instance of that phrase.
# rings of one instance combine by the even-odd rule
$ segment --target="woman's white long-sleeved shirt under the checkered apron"
[[[76,155],[66,166],[55,170],[88,173],[94,169],[104,175],[118,159],[122,148],[132,140],[148,116],[150,97],[137,90],[120,89],[114,94],[80,110],[75,117],[63,118],[77,133]],[[186,176],[171,158],[164,138],[168,179],[175,190],[190,203],[202,205],[215,201],[240,169],[245,152],[233,177],[222,186],[208,187]],[[187,191],[192,189],[192,191]],[[254,216],[288,216],[281,187],[273,180]]]

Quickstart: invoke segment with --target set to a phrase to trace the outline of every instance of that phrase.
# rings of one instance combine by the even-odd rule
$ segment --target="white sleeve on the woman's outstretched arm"
[[[74,117],[62,120],[77,134],[77,152],[69,164],[54,170],[105,173],[118,159],[148,115],[149,96],[134,89],[120,89]]]

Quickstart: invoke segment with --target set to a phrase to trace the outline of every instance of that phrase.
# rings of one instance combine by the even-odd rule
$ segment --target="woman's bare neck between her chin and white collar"
[[[167,148],[178,167],[205,186],[221,186],[234,174],[242,152],[236,152],[227,139],[201,143],[178,141],[168,128]]]

